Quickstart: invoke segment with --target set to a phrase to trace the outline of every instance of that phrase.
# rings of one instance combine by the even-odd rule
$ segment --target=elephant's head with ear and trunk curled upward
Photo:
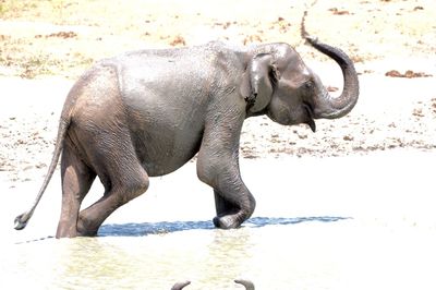
[[[314,38],[308,43],[334,59],[342,70],[343,89],[331,97],[320,78],[307,68],[287,44],[256,47],[251,53],[247,75],[251,95],[247,116],[267,114],[284,125],[306,123],[315,132],[314,119],[336,119],[346,116],[358,101],[359,80],[351,59],[340,49]]]

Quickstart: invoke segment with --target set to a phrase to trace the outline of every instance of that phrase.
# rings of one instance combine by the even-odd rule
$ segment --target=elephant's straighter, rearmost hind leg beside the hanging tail
[[[61,177],[62,209],[56,237],[73,238],[77,235],[82,201],[88,193],[96,173],[82,161],[68,140],[62,152]]]

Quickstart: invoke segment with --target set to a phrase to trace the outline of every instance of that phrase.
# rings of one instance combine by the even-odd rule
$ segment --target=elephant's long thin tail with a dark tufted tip
[[[66,131],[68,131],[68,129],[70,126],[70,122],[71,122],[71,119],[69,117],[64,118],[63,116],[61,117],[61,120],[59,122],[59,130],[58,130],[58,137],[56,140],[55,153],[53,153],[53,157],[51,159],[51,164],[48,168],[46,178],[43,182],[43,185],[38,192],[38,195],[35,198],[35,202],[32,205],[31,209],[21,214],[20,216],[17,216],[15,218],[15,222],[14,222],[15,230],[22,230],[27,226],[28,220],[31,219],[32,215],[34,214],[36,206],[38,205],[40,198],[43,197],[44,192],[47,189],[48,183],[50,182],[51,177],[53,176],[55,169],[59,161],[59,157],[62,153],[63,141],[65,138]]]

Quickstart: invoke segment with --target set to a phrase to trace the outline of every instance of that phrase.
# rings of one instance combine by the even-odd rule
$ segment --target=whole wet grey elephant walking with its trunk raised
[[[102,60],[65,100],[53,159],[31,218],[62,152],[62,210],[57,238],[96,235],[118,207],[143,194],[148,178],[170,173],[195,154],[197,176],[214,189],[216,227],[238,228],[255,200],[241,179],[239,141],[249,117],[283,125],[340,118],[355,105],[358,76],[339,49],[310,43],[342,69],[344,87],[332,98],[287,44],[234,48],[221,43],[142,50]],[[80,210],[98,177],[104,196]]]

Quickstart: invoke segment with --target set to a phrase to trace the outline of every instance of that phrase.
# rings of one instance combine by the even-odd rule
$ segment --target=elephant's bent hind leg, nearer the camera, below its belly
[[[78,215],[77,231],[86,237],[96,235],[117,208],[143,194],[149,184],[126,128],[114,128],[90,137],[97,146],[88,147],[87,156],[105,186],[105,194]]]

